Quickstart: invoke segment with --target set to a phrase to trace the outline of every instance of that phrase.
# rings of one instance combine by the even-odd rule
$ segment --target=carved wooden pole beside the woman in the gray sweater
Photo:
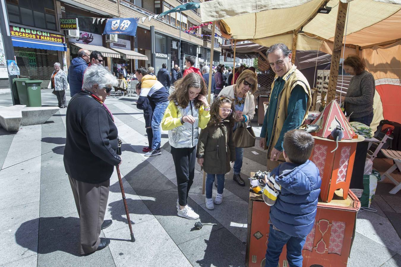
[[[327,89],[327,103],[330,103],[336,97],[336,87],[338,78],[338,68],[340,65],[342,38],[344,37],[345,20],[347,16],[348,3],[338,2],[338,13],[336,32],[334,35],[333,42],[333,53],[331,57],[330,66],[330,80]]]

